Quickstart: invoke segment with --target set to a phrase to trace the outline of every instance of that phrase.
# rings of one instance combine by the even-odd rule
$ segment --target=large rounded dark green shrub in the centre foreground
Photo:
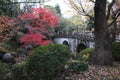
[[[37,47],[27,62],[31,80],[51,80],[70,59],[70,50],[65,45],[51,44]]]

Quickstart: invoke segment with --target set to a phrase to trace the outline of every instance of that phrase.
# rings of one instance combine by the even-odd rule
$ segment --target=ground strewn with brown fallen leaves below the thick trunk
[[[120,62],[113,66],[89,65],[87,71],[74,72],[67,69],[55,80],[120,80]]]

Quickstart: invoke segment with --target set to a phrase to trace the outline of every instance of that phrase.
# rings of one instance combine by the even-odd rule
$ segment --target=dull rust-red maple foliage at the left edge
[[[14,19],[7,16],[0,16],[0,43],[4,43],[12,38]]]

